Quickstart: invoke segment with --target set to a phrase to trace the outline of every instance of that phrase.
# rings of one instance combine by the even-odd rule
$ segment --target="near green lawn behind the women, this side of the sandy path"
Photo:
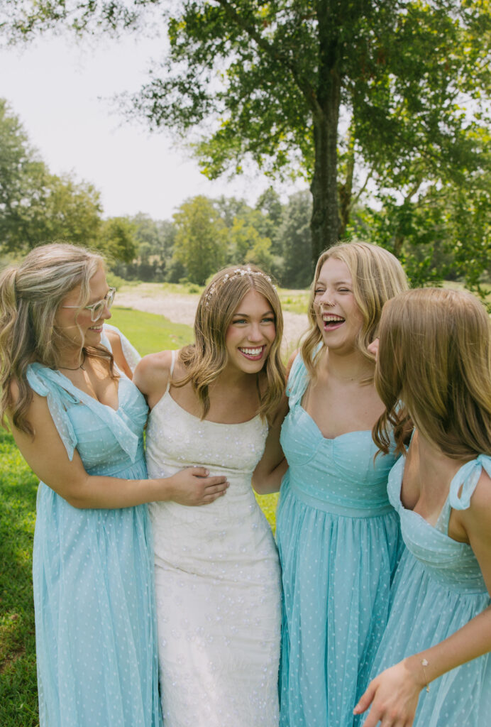
[[[118,326],[140,353],[180,348],[189,326],[162,316],[113,308]],[[32,595],[32,542],[38,481],[11,435],[0,428],[0,725],[37,727],[36,651]],[[258,497],[275,527],[277,495]]]

